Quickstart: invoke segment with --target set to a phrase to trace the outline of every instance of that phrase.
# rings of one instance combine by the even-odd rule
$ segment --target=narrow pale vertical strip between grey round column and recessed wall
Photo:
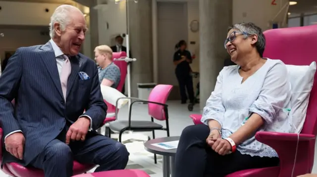
[[[152,0],[153,81],[159,82],[158,54],[158,2]]]

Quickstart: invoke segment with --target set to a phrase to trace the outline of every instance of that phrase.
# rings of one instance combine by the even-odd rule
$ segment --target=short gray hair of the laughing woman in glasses
[[[230,30],[237,30],[238,32],[247,33],[249,35],[257,35],[258,41],[256,42],[256,48],[259,52],[260,56],[263,57],[264,49],[265,49],[265,36],[262,32],[262,29],[256,26],[253,23],[237,23],[228,28],[228,32]]]

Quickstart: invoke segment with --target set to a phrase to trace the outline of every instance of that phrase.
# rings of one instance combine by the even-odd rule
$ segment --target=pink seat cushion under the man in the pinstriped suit
[[[14,177],[44,177],[43,170],[36,169],[33,167],[25,168],[18,163],[8,163],[6,164],[9,171],[14,175]],[[80,164],[77,161],[74,161],[73,174],[83,174],[91,169],[93,169],[95,165],[93,164]]]

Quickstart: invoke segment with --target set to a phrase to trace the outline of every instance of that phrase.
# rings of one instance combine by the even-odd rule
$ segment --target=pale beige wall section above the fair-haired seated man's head
[[[125,0],[121,0],[119,3],[108,1],[108,4],[98,10],[99,43],[101,45],[114,45],[116,35],[127,33],[125,3]],[[125,42],[126,40],[124,40],[124,45],[126,45]]]

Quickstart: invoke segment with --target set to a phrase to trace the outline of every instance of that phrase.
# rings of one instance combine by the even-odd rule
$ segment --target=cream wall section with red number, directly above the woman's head
[[[287,27],[288,4],[289,0],[233,0],[232,21],[253,22],[263,31],[271,29],[273,23],[278,28]]]

